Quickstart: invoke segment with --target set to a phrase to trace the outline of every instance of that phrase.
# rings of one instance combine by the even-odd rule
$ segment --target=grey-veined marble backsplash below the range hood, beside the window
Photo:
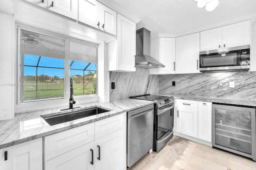
[[[111,82],[115,83],[115,89],[111,89]],[[150,75],[149,69],[136,68],[136,72],[110,72],[110,101],[148,93],[159,93],[159,77]]]

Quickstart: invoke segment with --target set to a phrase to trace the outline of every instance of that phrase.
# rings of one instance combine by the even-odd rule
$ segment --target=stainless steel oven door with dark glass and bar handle
[[[157,109],[156,151],[158,152],[173,136],[174,104]]]

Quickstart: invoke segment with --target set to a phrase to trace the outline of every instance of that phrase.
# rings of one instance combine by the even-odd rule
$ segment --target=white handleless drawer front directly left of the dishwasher
[[[95,139],[124,127],[124,113],[95,122]],[[126,123],[125,123],[126,124]]]

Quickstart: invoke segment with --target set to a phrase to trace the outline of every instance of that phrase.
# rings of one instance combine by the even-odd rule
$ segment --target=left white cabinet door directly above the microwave
[[[200,32],[200,51],[222,47],[222,27]]]

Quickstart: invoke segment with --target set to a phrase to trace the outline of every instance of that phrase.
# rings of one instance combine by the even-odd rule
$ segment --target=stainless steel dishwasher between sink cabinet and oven
[[[131,167],[153,148],[154,105],[128,111],[127,166]]]

